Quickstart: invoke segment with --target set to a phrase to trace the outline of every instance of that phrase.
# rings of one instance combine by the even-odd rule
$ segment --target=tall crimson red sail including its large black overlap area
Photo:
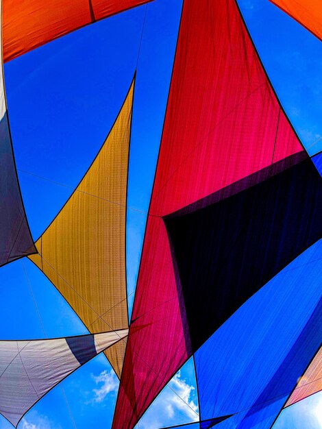
[[[321,197],[236,2],[184,0],[113,429],[321,238]]]

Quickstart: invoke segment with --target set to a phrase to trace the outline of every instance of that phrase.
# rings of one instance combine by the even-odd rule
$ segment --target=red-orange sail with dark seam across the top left
[[[4,62],[75,29],[148,1],[151,0],[5,0]]]

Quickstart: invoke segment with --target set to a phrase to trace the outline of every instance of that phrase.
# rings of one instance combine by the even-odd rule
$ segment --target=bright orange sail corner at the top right
[[[321,0],[271,0],[271,2],[322,40]]]

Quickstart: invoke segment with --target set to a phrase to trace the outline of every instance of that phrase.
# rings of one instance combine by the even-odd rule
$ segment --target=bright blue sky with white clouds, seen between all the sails
[[[238,3],[302,142],[311,155],[321,151],[321,42],[267,0]],[[127,216],[130,308],[181,6],[181,0],[156,0],[84,27],[5,64],[16,164],[35,239],[71,195],[97,154],[137,66]],[[86,332],[69,305],[28,260],[1,268],[0,283],[1,339]],[[58,386],[38,402],[19,428],[110,427],[118,382],[106,358],[97,356],[64,380],[62,387],[64,391]],[[282,413],[275,428],[321,428],[319,403],[321,409],[321,393],[291,406]],[[189,360],[147,411],[139,429],[193,421],[197,413],[193,361]],[[11,427],[0,417],[1,429]]]

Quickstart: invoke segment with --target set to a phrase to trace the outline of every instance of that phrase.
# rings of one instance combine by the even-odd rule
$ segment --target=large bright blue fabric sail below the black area
[[[321,345],[321,254],[319,240],[195,353],[201,418],[232,414],[219,428],[271,428]],[[313,364],[310,378],[317,373]]]

